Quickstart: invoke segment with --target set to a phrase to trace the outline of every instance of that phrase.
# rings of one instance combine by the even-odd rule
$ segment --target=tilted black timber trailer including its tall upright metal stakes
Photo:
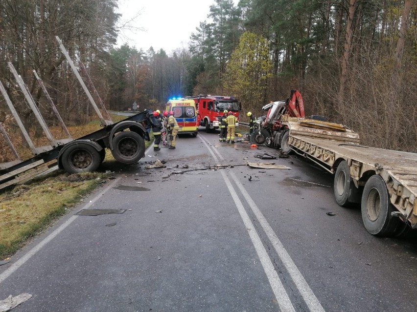
[[[74,71],[75,76],[78,78],[81,83],[84,91],[86,92],[93,108],[101,120],[102,129],[92,132],[88,135],[80,137],[78,139],[72,139],[68,129],[66,128],[64,122],[59,116],[52,100],[49,98],[46,88],[42,80],[34,71],[36,79],[42,86],[48,103],[51,105],[52,110],[54,111],[57,119],[59,120],[60,125],[63,127],[67,138],[55,140],[48,129],[45,120],[43,119],[34,99],[31,94],[28,92],[27,86],[24,84],[21,76],[16,72],[13,64],[8,63],[10,71],[15,77],[15,80],[19,84],[23,95],[25,97],[26,103],[30,106],[34,116],[41,125],[48,141],[48,146],[37,147],[32,142],[28,131],[25,129],[17,110],[15,109],[12,101],[10,100],[6,89],[3,84],[0,83],[0,91],[3,95],[5,102],[7,103],[10,112],[12,113],[16,124],[19,125],[23,138],[26,141],[27,145],[30,147],[33,157],[28,160],[21,160],[19,155],[16,152],[10,138],[7,135],[7,132],[0,124],[0,135],[2,135],[4,141],[8,148],[12,151],[12,154],[15,157],[15,160],[8,161],[6,163],[0,163],[0,189],[16,184],[23,183],[35,176],[46,174],[58,168],[64,169],[69,173],[78,173],[85,171],[94,171],[100,166],[103,162],[106,152],[105,149],[109,148],[112,152],[114,158],[124,164],[133,164],[139,161],[144,156],[145,152],[145,143],[144,140],[149,141],[148,129],[152,128],[153,125],[157,124],[155,117],[152,114],[152,110],[148,109],[143,112],[140,112],[134,116],[128,117],[120,122],[113,123],[110,119],[110,116],[107,114],[107,111],[104,105],[99,100],[102,105],[102,110],[107,114],[108,119],[105,119],[97,105],[95,104],[93,97],[91,96],[89,90],[84,84],[81,76],[79,75],[75,65],[71,61],[67,51],[65,50],[62,42],[56,37],[58,43],[60,44],[61,50],[66,56],[72,70]],[[81,62],[79,62],[79,67],[84,68]],[[84,74],[88,78],[88,74],[85,71]],[[93,84],[90,82],[90,87],[93,88],[93,91],[96,92]],[[96,94],[97,95],[97,94]],[[98,97],[99,98],[99,97]]]

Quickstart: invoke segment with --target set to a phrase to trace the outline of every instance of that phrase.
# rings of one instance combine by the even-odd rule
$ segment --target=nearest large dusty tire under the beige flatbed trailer
[[[373,235],[391,236],[401,221],[391,216],[395,208],[390,202],[384,180],[378,175],[371,176],[365,184],[361,211],[364,226]]]

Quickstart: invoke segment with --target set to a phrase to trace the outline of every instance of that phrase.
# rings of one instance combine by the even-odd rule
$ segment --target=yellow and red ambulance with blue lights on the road
[[[194,100],[191,99],[170,99],[166,103],[166,111],[173,111],[180,130],[178,133],[198,134],[197,109]]]

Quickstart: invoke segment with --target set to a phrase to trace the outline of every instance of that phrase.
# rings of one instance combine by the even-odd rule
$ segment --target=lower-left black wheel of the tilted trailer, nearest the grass
[[[93,146],[78,143],[71,145],[62,153],[61,162],[68,173],[91,172],[100,166],[101,156]]]

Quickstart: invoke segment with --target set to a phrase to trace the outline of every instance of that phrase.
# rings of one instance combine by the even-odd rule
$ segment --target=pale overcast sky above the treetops
[[[233,0],[235,5],[238,0]],[[143,51],[150,46],[155,51],[172,50],[187,46],[192,32],[200,21],[209,21],[207,15],[214,0],[119,0],[118,13],[121,22],[129,21],[139,14],[131,24],[143,30],[121,31],[117,46],[124,43]]]

